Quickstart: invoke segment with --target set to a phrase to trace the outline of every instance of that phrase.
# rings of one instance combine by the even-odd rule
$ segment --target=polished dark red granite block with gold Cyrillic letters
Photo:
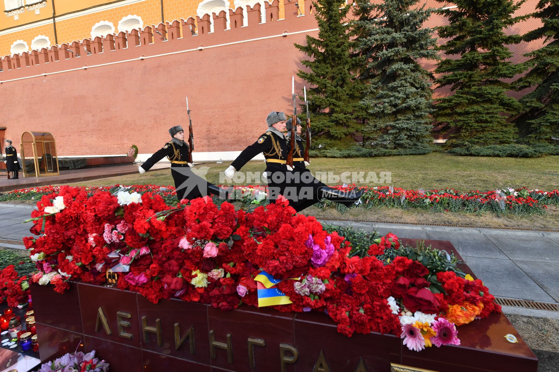
[[[449,241],[425,244],[459,257]],[[392,364],[437,372],[537,371],[536,356],[503,314],[459,327],[460,346],[415,352],[393,335],[345,337],[319,312],[246,305],[222,312],[177,299],[155,305],[140,294],[82,282],[61,295],[50,286],[33,285],[31,292],[42,361],[77,346],[97,350],[116,372],[390,372]],[[506,334],[519,342],[510,344]]]

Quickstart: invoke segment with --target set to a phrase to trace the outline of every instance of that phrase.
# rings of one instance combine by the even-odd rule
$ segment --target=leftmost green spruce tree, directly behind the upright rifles
[[[359,101],[359,88],[353,75],[357,61],[350,57],[345,17],[350,5],[340,8],[339,0],[316,0],[315,17],[319,25],[318,38],[306,36],[306,45],[295,44],[309,60],[297,76],[308,81],[309,112],[311,113],[312,146],[348,147],[354,144],[352,134],[362,125],[354,119]]]

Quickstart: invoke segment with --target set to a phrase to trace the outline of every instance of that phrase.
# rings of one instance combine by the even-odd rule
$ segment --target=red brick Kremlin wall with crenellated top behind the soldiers
[[[537,2],[528,0],[519,14],[532,12]],[[429,0],[427,6],[440,4]],[[191,35],[188,25],[194,27],[195,20],[188,18],[157,27],[163,35],[167,29],[168,41],[147,26],[140,32],[6,56],[0,60],[4,137],[19,148],[23,131],[51,132],[60,156],[124,154],[131,144],[142,154],[153,153],[168,141],[169,127],[187,127],[188,96],[196,153],[241,151],[266,130],[270,111],[291,112],[291,76],[304,57],[293,44],[304,44],[307,34],[318,35],[314,15],[306,8],[305,16],[297,16],[295,1],[286,1],[285,19],[278,20],[276,0],[266,3],[266,23],[259,23],[259,4],[249,7],[247,27],[241,27],[241,9],[230,9],[230,30],[224,30],[221,12],[213,15],[213,33],[208,33],[206,15],[196,20],[198,36]],[[425,26],[443,22],[433,16]],[[509,31],[523,34],[538,24],[530,20]],[[514,61],[540,46],[513,46]],[[434,63],[425,65],[432,69]],[[296,78],[301,95],[303,84]],[[195,160],[215,158],[199,154]]]

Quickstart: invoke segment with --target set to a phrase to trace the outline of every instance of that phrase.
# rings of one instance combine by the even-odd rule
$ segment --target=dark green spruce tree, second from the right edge
[[[509,61],[512,53],[506,46],[518,44],[521,37],[505,35],[505,28],[526,18],[513,17],[523,2],[453,0],[456,8],[437,11],[449,21],[437,27],[439,36],[450,40],[440,46],[448,57],[439,62],[435,73],[443,74],[437,83],[450,87],[451,95],[439,100],[435,119],[457,129],[451,136],[454,145],[504,144],[516,138],[508,118],[520,104],[506,95],[511,84],[503,79],[523,71],[521,64]]]

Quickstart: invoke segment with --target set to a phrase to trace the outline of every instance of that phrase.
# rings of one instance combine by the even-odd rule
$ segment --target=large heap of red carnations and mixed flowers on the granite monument
[[[32,281],[64,292],[70,279],[101,284],[111,269],[118,288],[154,303],[174,297],[225,311],[263,306],[257,280],[266,276],[276,294],[264,297],[280,299],[266,305],[278,311],[326,312],[344,335],[390,333],[417,351],[457,345],[456,326],[500,311],[480,280],[448,269],[455,258],[431,250],[432,264],[395,235],[359,250],[283,198],[252,212],[209,197],[187,202],[68,186],[42,196],[31,232],[44,234],[24,239],[39,269]]]

